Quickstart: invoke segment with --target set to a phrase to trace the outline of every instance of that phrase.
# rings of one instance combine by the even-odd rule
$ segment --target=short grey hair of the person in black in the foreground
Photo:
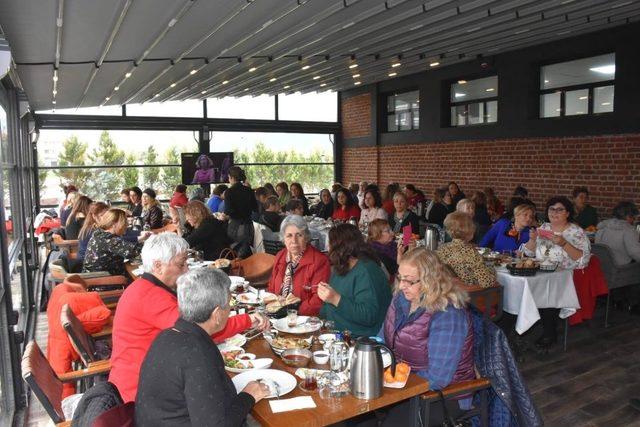
[[[188,322],[204,323],[216,307],[229,305],[229,276],[218,269],[196,268],[178,278],[178,311]]]

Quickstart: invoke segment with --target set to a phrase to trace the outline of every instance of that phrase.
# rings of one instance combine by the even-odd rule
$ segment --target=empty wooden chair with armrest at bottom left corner
[[[56,375],[35,341],[27,344],[22,356],[22,378],[57,426],[71,425],[71,421],[65,420],[62,412],[62,384],[93,378],[110,370],[111,362],[104,360],[91,363],[85,369]]]

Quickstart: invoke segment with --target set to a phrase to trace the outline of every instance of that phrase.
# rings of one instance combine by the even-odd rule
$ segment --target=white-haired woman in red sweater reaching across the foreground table
[[[125,402],[135,399],[140,365],[155,337],[178,319],[176,283],[187,272],[189,244],[174,233],[149,238],[142,248],[144,273],[124,291],[113,319],[109,381]],[[212,338],[222,341],[250,327],[264,329],[260,314],[233,316]]]

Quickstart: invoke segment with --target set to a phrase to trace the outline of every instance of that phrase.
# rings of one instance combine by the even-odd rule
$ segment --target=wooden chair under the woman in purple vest
[[[491,381],[486,378],[478,378],[451,384],[449,387],[442,389],[442,396],[445,400],[449,400],[465,394],[480,393],[480,406],[467,411],[464,417],[470,418],[479,415],[480,425],[487,427],[489,426],[489,400],[487,394],[490,388]],[[440,400],[440,394],[437,391],[430,390],[420,398],[422,399],[422,422],[424,425],[429,425],[430,405],[432,402]]]

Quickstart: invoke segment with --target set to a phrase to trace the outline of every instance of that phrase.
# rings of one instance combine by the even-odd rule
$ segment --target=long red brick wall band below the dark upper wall
[[[522,184],[538,206],[587,186],[601,216],[623,199],[640,203],[640,134],[460,141],[346,148],[343,182],[413,183],[427,193],[456,181],[470,196],[491,186],[505,201]]]

